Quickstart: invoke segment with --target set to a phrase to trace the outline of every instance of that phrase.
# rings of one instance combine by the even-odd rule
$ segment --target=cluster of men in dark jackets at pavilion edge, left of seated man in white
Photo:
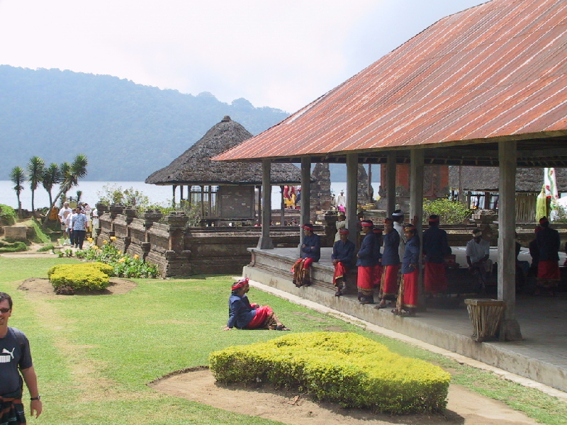
[[[359,251],[349,240],[349,229],[345,217],[339,213],[337,237],[332,249],[332,264],[335,266],[333,284],[335,295],[344,294],[347,273],[357,266],[358,299],[361,304],[374,304],[374,293],[379,288],[376,308],[386,307],[386,302],[395,303],[395,314],[412,315],[417,308],[417,281],[419,276],[420,237],[412,224],[403,224],[404,214],[395,210],[383,222],[383,229],[374,226],[371,220],[360,222],[364,238]],[[425,254],[425,289],[438,293],[447,289],[444,256],[451,254],[447,233],[439,229],[439,217],[430,216],[430,228],[423,233]],[[310,266],[320,259],[320,238],[313,232],[313,225],[303,225],[301,258],[293,264],[293,283],[297,287],[308,286]],[[355,255],[356,253],[356,255]]]

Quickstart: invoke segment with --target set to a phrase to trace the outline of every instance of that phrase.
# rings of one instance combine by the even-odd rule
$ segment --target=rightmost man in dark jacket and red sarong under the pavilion
[[[547,217],[539,219],[541,230],[536,233],[537,248],[539,249],[539,262],[537,266],[537,288],[535,295],[539,295],[539,289],[545,288],[551,290],[554,294],[554,288],[561,279],[559,272],[559,247],[561,241],[559,232],[549,227]]]

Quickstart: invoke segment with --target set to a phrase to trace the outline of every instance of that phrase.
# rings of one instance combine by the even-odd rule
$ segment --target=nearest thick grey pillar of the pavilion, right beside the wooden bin
[[[498,208],[498,299],[506,302],[500,341],[521,341],[516,319],[516,162],[517,142],[498,142],[500,199]]]

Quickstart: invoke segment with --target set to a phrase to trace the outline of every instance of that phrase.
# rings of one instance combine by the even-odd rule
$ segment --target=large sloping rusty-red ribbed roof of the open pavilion
[[[566,135],[566,103],[567,1],[493,0],[442,18],[214,159]]]

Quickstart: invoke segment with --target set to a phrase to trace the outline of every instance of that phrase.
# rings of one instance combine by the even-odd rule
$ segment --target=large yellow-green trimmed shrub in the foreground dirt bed
[[[291,334],[210,353],[220,382],[299,387],[315,399],[375,412],[435,412],[447,405],[451,376],[438,366],[393,353],[364,336]]]

